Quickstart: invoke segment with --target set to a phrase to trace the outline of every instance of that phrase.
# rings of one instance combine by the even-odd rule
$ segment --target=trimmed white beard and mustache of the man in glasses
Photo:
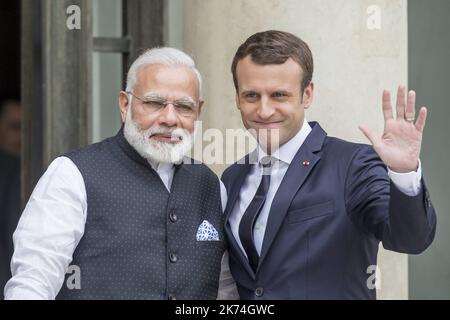
[[[153,134],[171,134],[174,139],[179,137],[180,141],[177,143],[155,141],[150,139]],[[182,128],[170,129],[165,126],[152,126],[143,130],[133,121],[131,108],[128,108],[124,126],[125,139],[141,157],[151,162],[181,163],[193,146],[194,134]]]

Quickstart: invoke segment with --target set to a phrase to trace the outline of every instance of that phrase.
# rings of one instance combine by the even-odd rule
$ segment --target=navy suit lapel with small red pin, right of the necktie
[[[326,133],[318,123],[311,124],[312,131],[289,165],[270,207],[258,270],[286,217],[292,199],[320,160],[316,152],[321,150]]]

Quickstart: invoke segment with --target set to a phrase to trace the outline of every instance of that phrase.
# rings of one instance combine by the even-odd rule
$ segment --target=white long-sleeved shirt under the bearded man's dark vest
[[[173,165],[150,164],[170,191]],[[220,189],[225,208],[227,193],[221,181]],[[84,234],[87,213],[83,176],[72,160],[56,158],[36,185],[14,232],[13,277],[5,286],[5,299],[55,299]],[[226,252],[219,298],[237,297]]]

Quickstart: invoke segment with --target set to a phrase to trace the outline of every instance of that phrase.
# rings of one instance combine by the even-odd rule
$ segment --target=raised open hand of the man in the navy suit
[[[392,115],[391,94],[388,90],[383,91],[383,136],[376,136],[367,126],[359,126],[381,160],[398,173],[417,170],[422,132],[427,118],[427,108],[422,107],[414,124],[416,93],[409,91],[406,101],[405,91],[405,86],[398,87],[396,119]]]

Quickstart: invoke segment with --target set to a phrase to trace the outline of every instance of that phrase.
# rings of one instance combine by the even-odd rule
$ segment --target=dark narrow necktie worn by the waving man
[[[255,241],[253,238],[253,228],[255,226],[256,219],[261,213],[264,203],[266,202],[267,191],[270,185],[270,157],[261,159],[261,165],[263,167],[263,176],[255,197],[245,210],[239,224],[239,238],[241,239],[242,247],[244,247],[247,253],[248,262],[253,270],[256,272],[259,262],[259,254],[255,247]]]

